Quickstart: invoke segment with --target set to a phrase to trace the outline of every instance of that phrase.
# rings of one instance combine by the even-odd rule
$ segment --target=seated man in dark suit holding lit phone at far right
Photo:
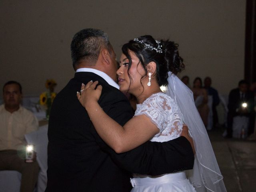
[[[232,138],[233,120],[236,116],[248,117],[248,135],[253,133],[253,118],[254,118],[254,94],[249,89],[249,83],[245,80],[240,80],[238,88],[230,91],[228,96],[228,128],[227,138]],[[245,126],[245,125],[244,125]],[[244,132],[245,130],[243,130]],[[244,134],[241,132],[241,134]]]

